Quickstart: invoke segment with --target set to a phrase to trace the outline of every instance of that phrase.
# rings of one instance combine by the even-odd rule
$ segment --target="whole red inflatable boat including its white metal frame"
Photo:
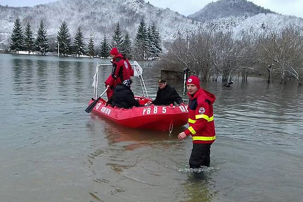
[[[143,91],[143,96],[135,96],[138,99],[140,105],[144,105],[148,101],[152,100],[148,97],[147,90],[142,78],[142,68],[139,64],[134,61],[132,64],[135,67],[135,73],[140,78],[140,83]],[[181,104],[178,106],[144,106],[144,107],[133,107],[131,109],[123,109],[112,107],[111,105],[106,106],[106,100],[102,98],[102,95],[106,90],[98,96],[98,67],[94,76],[94,96],[88,104],[86,112],[93,112],[100,117],[104,117],[111,120],[119,125],[130,127],[130,128],[141,128],[141,129],[153,129],[172,131],[173,127],[183,126],[188,121],[187,105]],[[135,75],[136,76],[136,75]],[[144,92],[145,90],[145,92]]]

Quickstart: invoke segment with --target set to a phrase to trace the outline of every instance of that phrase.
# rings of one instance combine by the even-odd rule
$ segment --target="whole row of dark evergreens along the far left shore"
[[[90,34],[89,38],[84,38],[80,26],[72,38],[67,22],[64,21],[57,33],[57,42],[54,42],[55,39],[49,39],[43,20],[40,21],[36,37],[34,37],[30,23],[27,22],[23,29],[20,19],[17,18],[11,34],[10,48],[17,53],[26,51],[28,54],[39,52],[41,55],[45,55],[47,52],[59,52],[62,56],[86,55],[108,58],[110,49],[117,47],[120,53],[136,60],[153,60],[162,54],[162,40],[155,23],[147,27],[142,19],[134,38],[135,40],[131,40],[127,32],[122,33],[118,22],[111,38],[104,35],[97,47],[95,44],[97,39],[93,34]]]

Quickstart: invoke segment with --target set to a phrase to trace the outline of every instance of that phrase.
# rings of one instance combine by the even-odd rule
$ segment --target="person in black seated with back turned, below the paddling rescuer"
[[[132,108],[133,106],[140,107],[138,100],[135,99],[134,93],[130,89],[131,83],[131,79],[126,79],[122,84],[118,84],[107,104],[125,109]]]

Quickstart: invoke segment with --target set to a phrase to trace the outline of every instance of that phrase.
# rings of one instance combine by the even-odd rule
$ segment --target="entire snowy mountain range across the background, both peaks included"
[[[26,22],[30,22],[34,35],[37,33],[40,20],[43,20],[52,42],[55,41],[63,21],[66,21],[71,36],[74,36],[80,26],[84,37],[88,38],[93,34],[96,39],[103,39],[104,34],[111,37],[118,22],[122,32],[128,32],[130,38],[134,39],[141,19],[145,20],[147,26],[155,22],[163,40],[172,39],[177,34],[189,33],[200,27],[211,26],[216,30],[232,30],[237,37],[243,32],[262,33],[270,29],[280,29],[288,24],[303,26],[301,18],[274,14],[245,0],[220,0],[207,5],[199,12],[208,11],[210,8],[212,12],[208,12],[209,17],[205,17],[206,14],[203,16],[213,20],[203,23],[186,18],[170,9],[155,7],[143,0],[59,0],[45,5],[21,8],[0,5],[0,49],[8,46],[17,17],[21,19],[23,27]],[[98,45],[101,41],[96,40],[95,43]]]

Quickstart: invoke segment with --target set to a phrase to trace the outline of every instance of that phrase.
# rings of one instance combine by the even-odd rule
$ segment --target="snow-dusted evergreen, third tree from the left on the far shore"
[[[35,40],[35,46],[36,50],[39,51],[42,55],[48,51],[47,31],[42,20],[40,21],[40,25],[38,27],[38,34]]]

